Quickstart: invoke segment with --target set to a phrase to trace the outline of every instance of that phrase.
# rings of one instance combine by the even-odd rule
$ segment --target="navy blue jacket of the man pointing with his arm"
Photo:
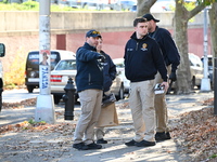
[[[76,86],[77,92],[98,89],[103,90],[103,67],[99,60],[101,55],[87,42],[76,52]]]

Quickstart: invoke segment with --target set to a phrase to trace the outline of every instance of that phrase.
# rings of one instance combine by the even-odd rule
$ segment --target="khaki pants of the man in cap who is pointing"
[[[84,135],[86,145],[93,143],[94,126],[101,111],[102,93],[101,90],[85,90],[78,93],[81,114],[75,129],[74,144],[81,143]]]

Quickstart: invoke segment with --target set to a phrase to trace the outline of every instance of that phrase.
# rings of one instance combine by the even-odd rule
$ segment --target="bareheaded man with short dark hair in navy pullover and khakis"
[[[130,80],[129,107],[135,138],[127,146],[148,147],[155,143],[154,78],[159,71],[165,91],[168,87],[167,69],[159,46],[148,36],[148,22],[133,21],[135,32],[125,46],[125,76]]]

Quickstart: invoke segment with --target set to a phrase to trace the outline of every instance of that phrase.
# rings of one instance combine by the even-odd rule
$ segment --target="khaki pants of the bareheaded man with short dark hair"
[[[155,141],[154,80],[130,83],[129,106],[136,131],[135,140]]]

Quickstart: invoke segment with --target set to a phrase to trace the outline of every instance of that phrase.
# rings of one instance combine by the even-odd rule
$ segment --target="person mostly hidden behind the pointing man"
[[[111,86],[113,83],[113,80],[116,78],[117,71],[116,71],[116,66],[113,63],[112,58],[110,57],[110,55],[107,55],[104,51],[102,51],[102,44],[103,44],[103,40],[102,38],[99,39],[99,43],[97,45],[97,51],[98,53],[100,53],[101,55],[103,55],[105,57],[105,60],[103,64],[103,79],[104,79],[104,83],[103,83],[103,98],[107,99],[110,103],[114,103],[115,96],[114,94],[111,94]],[[102,100],[103,102],[103,100]],[[105,140],[104,137],[104,127],[97,127],[95,129],[95,137],[97,137],[97,144],[107,144],[107,140]]]

